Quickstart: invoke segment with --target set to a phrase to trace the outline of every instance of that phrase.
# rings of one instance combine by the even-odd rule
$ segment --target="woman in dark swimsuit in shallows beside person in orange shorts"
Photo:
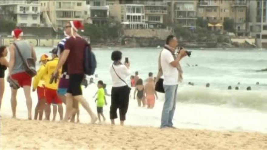
[[[137,95],[138,106],[141,107],[141,101],[142,101],[143,107],[146,107],[146,102],[144,98],[144,85],[143,85],[142,79],[138,79],[136,82],[136,88],[134,90],[134,99],[135,99],[135,95]]]

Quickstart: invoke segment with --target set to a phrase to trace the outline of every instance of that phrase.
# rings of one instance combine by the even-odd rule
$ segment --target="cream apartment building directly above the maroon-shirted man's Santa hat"
[[[42,19],[45,24],[52,26],[56,31],[63,29],[69,21],[83,21],[86,15],[85,1],[82,0],[42,0],[39,3],[41,4]]]

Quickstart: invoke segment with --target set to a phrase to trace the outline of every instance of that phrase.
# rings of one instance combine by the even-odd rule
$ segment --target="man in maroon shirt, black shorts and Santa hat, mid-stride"
[[[66,41],[63,54],[59,60],[59,63],[54,72],[54,76],[58,74],[59,68],[67,61],[68,74],[69,74],[69,88],[66,94],[66,115],[64,121],[68,121],[72,115],[73,100],[78,100],[91,117],[91,122],[97,121],[96,115],[92,112],[88,102],[82,95],[82,89],[80,87],[84,78],[84,50],[88,44],[82,37],[77,34],[79,29],[83,28],[83,25],[79,21],[71,21],[72,36]]]

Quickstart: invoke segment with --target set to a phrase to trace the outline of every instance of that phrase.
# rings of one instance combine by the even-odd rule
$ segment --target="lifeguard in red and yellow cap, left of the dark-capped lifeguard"
[[[37,71],[37,75],[33,79],[32,83],[32,92],[35,92],[37,89],[37,96],[38,96],[38,102],[35,107],[35,113],[34,113],[34,119],[37,120],[38,114],[39,114],[39,120],[42,120],[42,116],[44,113],[44,108],[46,105],[46,99],[45,99],[45,80],[48,78],[47,74],[45,73],[40,77],[40,72],[43,72],[43,70],[46,68],[46,63],[48,61],[48,56],[46,54],[42,55],[40,58],[39,63],[42,63],[39,70]]]

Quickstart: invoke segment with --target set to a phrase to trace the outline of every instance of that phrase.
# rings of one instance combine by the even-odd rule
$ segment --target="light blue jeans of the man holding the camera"
[[[172,127],[178,85],[163,85],[165,90],[165,102],[161,115],[161,128]]]

